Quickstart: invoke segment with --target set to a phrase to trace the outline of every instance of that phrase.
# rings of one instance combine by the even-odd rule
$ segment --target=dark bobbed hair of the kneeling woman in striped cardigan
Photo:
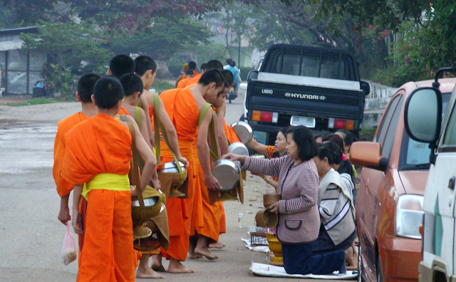
[[[305,162],[318,154],[318,145],[309,128],[302,125],[290,127],[286,130],[286,135],[289,134],[293,135],[293,140],[298,145],[299,160]]]

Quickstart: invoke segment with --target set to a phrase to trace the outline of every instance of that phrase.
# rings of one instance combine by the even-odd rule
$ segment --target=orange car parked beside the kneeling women
[[[455,83],[455,78],[442,80],[443,108]],[[431,84],[432,80],[409,82],[398,88],[373,142],[351,146],[350,161],[363,167],[356,200],[358,281],[418,281],[430,148],[410,139],[403,113],[408,95]]]

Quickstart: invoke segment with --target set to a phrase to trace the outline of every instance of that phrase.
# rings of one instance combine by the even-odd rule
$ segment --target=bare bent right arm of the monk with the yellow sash
[[[150,149],[149,145],[145,141],[145,138],[142,137],[140,130],[138,129],[138,125],[133,125],[135,127],[135,137],[136,137],[136,149],[140,153],[142,160],[144,161],[144,168],[141,172],[141,190],[144,191],[145,187],[149,183],[149,180],[155,175],[157,178],[156,167],[157,167],[157,159],[155,158],[152,149]],[[154,174],[155,172],[155,174]],[[154,187],[157,188],[157,187]]]

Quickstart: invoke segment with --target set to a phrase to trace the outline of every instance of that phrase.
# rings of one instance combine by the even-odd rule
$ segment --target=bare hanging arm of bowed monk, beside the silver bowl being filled
[[[204,184],[208,189],[215,189],[215,187],[222,188],[217,179],[212,176],[210,167],[209,145],[207,144],[207,132],[209,131],[209,123],[212,119],[212,110],[208,110],[201,124],[199,125],[197,137],[197,151],[199,163],[201,164],[204,173]]]

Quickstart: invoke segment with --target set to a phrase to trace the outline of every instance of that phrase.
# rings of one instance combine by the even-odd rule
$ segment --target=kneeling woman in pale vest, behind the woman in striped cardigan
[[[324,143],[314,157],[320,188],[318,192],[318,211],[321,216],[320,232],[315,244],[314,254],[324,254],[336,250],[351,251],[356,239],[355,207],[350,188],[343,177],[333,169],[341,162],[342,151],[333,142]],[[348,180],[348,182],[350,182]],[[351,183],[351,182],[350,182]],[[352,184],[353,185],[353,184]],[[348,265],[354,266],[353,253],[349,252]],[[355,253],[356,254],[356,253]]]

